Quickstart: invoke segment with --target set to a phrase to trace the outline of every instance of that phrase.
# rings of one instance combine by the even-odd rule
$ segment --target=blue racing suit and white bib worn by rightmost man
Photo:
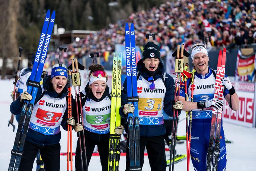
[[[191,84],[189,85],[189,83],[190,78],[187,80],[187,91],[189,100],[191,100],[192,87]],[[185,83],[183,85],[185,85]],[[208,74],[205,74],[205,76],[195,72],[194,85],[193,102],[206,101],[214,98],[215,77],[213,71],[210,68]],[[224,97],[227,94],[229,94],[228,90],[224,89]],[[180,87],[180,96],[185,97],[185,86]],[[192,110],[192,124],[189,125],[192,126],[190,154],[195,171],[205,171],[207,168],[207,150],[209,146],[211,117],[211,107],[204,108],[204,110]],[[227,159],[222,123],[220,135],[220,155],[218,159],[218,170],[225,171]]]

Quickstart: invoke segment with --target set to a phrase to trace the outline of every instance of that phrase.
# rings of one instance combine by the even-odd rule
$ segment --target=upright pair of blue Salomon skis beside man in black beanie
[[[138,95],[134,25],[125,25],[125,53],[127,74],[127,101],[135,107],[134,113],[128,113],[129,158],[130,170],[141,170],[140,167],[140,129],[138,119]],[[132,85],[132,88],[128,88]]]

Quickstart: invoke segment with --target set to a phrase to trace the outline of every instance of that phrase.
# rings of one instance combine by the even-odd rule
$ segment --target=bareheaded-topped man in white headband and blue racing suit
[[[209,57],[204,44],[191,46],[192,63],[196,68],[193,90],[193,101],[185,100],[185,87],[180,88],[180,100],[183,102],[182,110],[192,110],[192,132],[191,132],[191,160],[196,171],[204,171],[207,168],[207,150],[211,129],[212,107],[220,109],[223,101],[214,98],[216,71],[208,67]],[[191,97],[191,85],[187,80],[188,94]],[[239,97],[232,86],[230,79],[224,77],[221,84],[225,86],[224,97],[232,110],[239,109]],[[221,124],[220,155],[218,159],[218,170],[224,171],[226,167],[226,145],[224,131]]]

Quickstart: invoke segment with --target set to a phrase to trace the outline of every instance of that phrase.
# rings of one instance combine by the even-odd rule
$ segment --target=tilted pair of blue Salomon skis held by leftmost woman
[[[22,111],[20,114],[19,125],[17,129],[16,137],[15,137],[15,142],[11,152],[12,156],[10,159],[8,171],[12,171],[13,168],[15,171],[19,170],[20,160],[23,154],[23,148],[25,145],[26,134],[28,132],[31,113],[33,110],[33,105],[35,103],[36,93],[37,93],[38,87],[40,86],[39,81],[41,78],[42,70],[44,68],[47,50],[48,50],[50,39],[51,39],[52,29],[54,27],[55,11],[53,11],[51,19],[49,19],[49,17],[50,17],[50,10],[47,11],[47,14],[45,17],[42,33],[39,39],[39,44],[36,52],[36,58],[33,64],[30,80],[28,83],[27,91],[32,95],[32,100],[24,101],[23,103]]]

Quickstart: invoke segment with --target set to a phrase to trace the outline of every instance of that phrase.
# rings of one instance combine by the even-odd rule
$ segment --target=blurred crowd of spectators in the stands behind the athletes
[[[124,44],[125,23],[134,23],[136,45],[143,48],[147,33],[156,34],[161,48],[173,50],[177,43],[185,48],[202,42],[198,35],[210,35],[208,46],[227,47],[256,43],[255,0],[177,0],[167,1],[160,7],[132,13],[126,20],[87,35],[86,38],[68,45],[64,57],[78,58],[90,52],[115,51],[115,44]],[[196,35],[197,33],[198,35]],[[56,57],[52,52],[51,57]]]

